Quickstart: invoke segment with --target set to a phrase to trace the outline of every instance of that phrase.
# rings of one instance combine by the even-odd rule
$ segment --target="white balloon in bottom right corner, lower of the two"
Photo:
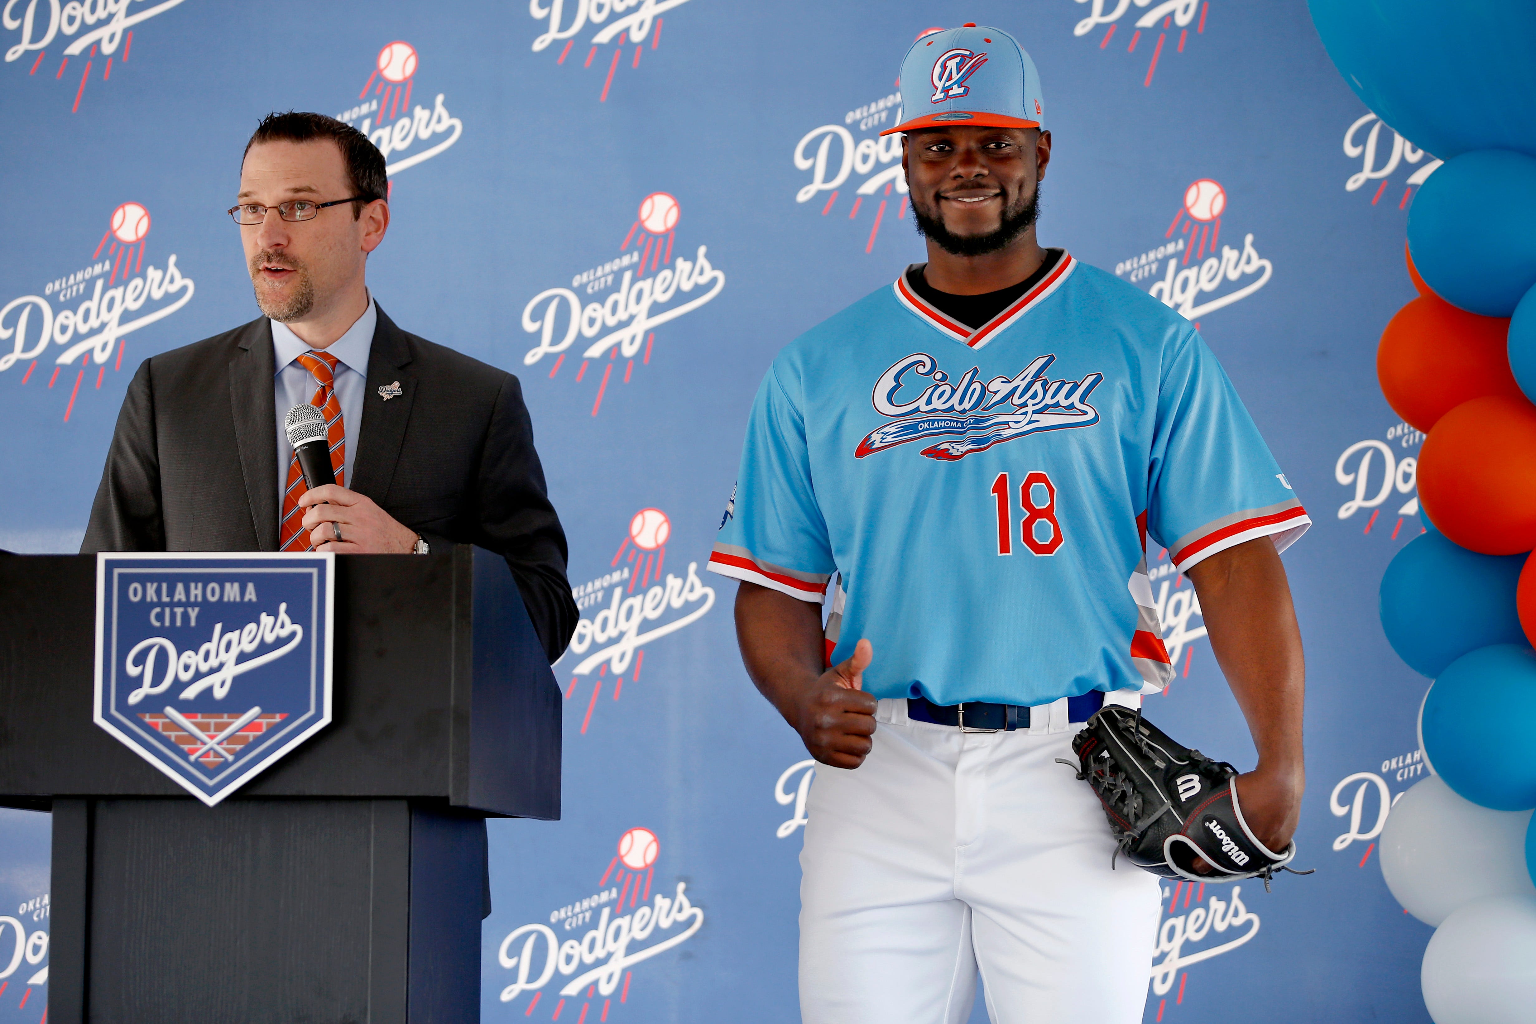
[[[1530,1024],[1536,897],[1485,897],[1430,936],[1419,981],[1435,1024]]]

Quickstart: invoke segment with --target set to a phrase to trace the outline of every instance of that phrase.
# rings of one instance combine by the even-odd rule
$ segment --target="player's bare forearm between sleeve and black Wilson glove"
[[[1286,568],[1269,537],[1220,551],[1189,571],[1210,649],[1243,708],[1258,771],[1304,778],[1306,666]]]

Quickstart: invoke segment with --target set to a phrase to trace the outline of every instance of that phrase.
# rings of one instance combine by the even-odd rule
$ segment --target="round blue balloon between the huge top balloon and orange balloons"
[[[1409,207],[1409,250],[1452,306],[1511,315],[1536,284],[1536,157],[1481,149],[1445,161]]]

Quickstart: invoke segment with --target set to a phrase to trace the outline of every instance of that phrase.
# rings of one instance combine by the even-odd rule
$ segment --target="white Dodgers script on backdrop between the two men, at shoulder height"
[[[637,279],[633,270],[625,270],[617,287],[601,302],[582,306],[576,292],[565,287],[539,292],[522,307],[522,329],[539,336],[539,344],[524,353],[524,365],[565,352],[578,335],[596,339],[581,353],[582,359],[596,359],[613,347],[633,358],[650,329],[691,313],[725,287],[725,272],[714,267],[707,253],[708,247],[699,246],[693,259],[677,256],[673,266]],[[667,307],[694,289],[700,293]]]

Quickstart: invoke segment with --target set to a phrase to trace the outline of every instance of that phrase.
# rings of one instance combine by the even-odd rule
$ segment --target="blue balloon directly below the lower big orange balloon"
[[[1381,577],[1387,643],[1430,679],[1478,648],[1522,643],[1514,586],[1524,565],[1524,554],[1478,554],[1438,531],[1415,537]]]

